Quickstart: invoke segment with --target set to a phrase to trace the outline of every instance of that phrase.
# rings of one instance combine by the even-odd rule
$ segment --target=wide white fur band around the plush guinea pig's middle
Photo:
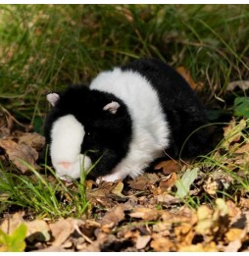
[[[132,120],[129,152],[114,173],[103,179],[112,181],[127,175],[138,176],[151,161],[162,156],[170,142],[170,130],[157,92],[145,77],[119,68],[101,73],[91,82],[90,88],[113,93],[122,99]]]

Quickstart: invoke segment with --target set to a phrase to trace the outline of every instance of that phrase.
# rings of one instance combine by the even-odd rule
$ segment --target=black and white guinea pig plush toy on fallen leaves
[[[44,133],[61,179],[78,179],[99,159],[92,177],[135,178],[166,154],[191,158],[207,146],[202,104],[159,60],[136,60],[47,99]]]

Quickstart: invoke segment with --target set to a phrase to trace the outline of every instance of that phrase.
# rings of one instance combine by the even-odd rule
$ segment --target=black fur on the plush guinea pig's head
[[[121,104],[115,115],[103,111],[103,107],[112,101]],[[125,103],[110,93],[89,90],[85,85],[70,86],[60,94],[60,100],[46,117],[44,134],[47,143],[51,141],[53,123],[69,114],[74,115],[85,129],[81,153],[87,152],[92,163],[102,157],[90,175],[109,174],[125,157],[131,139],[131,121]]]

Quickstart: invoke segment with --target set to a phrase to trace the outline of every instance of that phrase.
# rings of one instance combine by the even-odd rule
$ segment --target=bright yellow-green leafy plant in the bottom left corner
[[[22,252],[25,250],[27,228],[21,224],[12,234],[0,229],[0,252]]]

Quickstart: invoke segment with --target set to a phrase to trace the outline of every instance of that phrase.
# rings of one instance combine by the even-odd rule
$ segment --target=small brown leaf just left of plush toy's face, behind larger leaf
[[[19,137],[19,143],[25,143],[37,151],[40,151],[45,145],[45,138],[36,132],[25,133]]]

